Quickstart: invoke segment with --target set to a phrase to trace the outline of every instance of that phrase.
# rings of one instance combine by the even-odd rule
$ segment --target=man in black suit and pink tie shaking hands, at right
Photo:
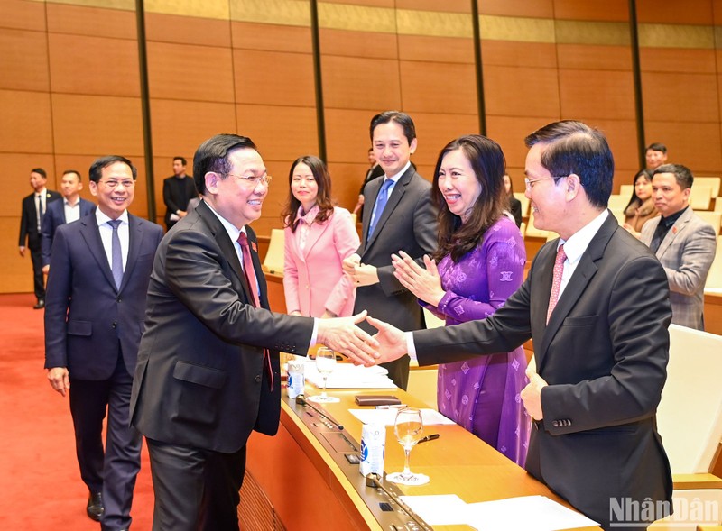
[[[605,529],[640,529],[671,510],[655,420],[669,359],[667,277],[606,209],[614,160],[602,133],[563,121],[526,145],[535,226],[560,238],[537,253],[521,288],[482,321],[405,335],[369,321],[382,359],[409,351],[421,365],[507,352],[531,337],[526,470]],[[399,279],[412,283],[414,262],[404,263]],[[653,510],[625,510],[643,503]]]

